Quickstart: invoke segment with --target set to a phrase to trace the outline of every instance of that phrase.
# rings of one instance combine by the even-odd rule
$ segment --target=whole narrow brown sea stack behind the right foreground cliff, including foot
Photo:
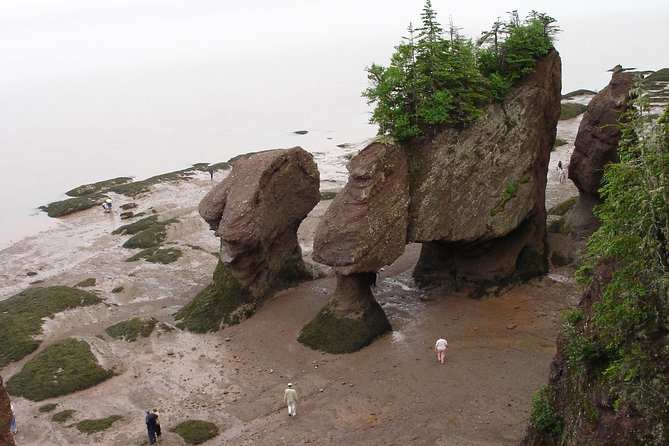
[[[618,162],[621,116],[631,106],[633,85],[634,74],[614,69],[609,85],[592,98],[583,114],[569,161],[569,178],[578,188],[579,201],[566,217],[578,236],[588,236],[599,226],[592,210],[601,203],[604,167]]]

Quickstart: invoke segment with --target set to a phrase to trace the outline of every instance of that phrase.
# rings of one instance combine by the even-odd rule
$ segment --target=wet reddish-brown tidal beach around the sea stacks
[[[569,143],[552,153],[547,208],[577,195],[570,181],[558,181],[555,166],[558,160],[568,164],[579,122],[580,117],[559,124],[558,137]],[[323,175],[322,188],[343,185],[345,155],[342,151],[327,161],[339,173]],[[134,252],[121,246],[128,236],[111,234],[128,223],[118,207],[112,214],[100,209],[74,214],[0,251],[0,300],[30,286],[96,279],[87,289],[104,303],[45,321],[39,350],[59,339],[83,339],[104,367],[118,373],[95,388],[52,400],[14,398],[17,445],[145,444],[143,416],[150,407],[159,409],[161,442],[170,445],[186,444],[169,429],[187,419],[219,427],[210,445],[518,443],[531,396],[547,381],[560,311],[578,300],[570,266],[553,268],[499,296],[471,299],[450,290],[415,288],[411,271],[420,246],[408,245],[381,272],[374,292],[392,333],[349,355],[324,354],[296,341],[333,294],[332,275],[277,293],[253,317],[217,333],[163,330],[131,343],[106,335],[106,327],[131,317],[174,326],[173,314],[210,282],[218,240],[197,205],[217,180],[205,172],[157,185],[134,200],[112,197],[116,206],[133,201],[135,212],[178,219],[169,227],[166,245],[178,247],[183,256],[168,265],[124,261]],[[328,204],[317,205],[300,228],[307,259]],[[571,241],[551,234],[549,243],[565,249]],[[122,292],[112,293],[119,287]],[[433,352],[440,336],[449,342],[444,365]],[[5,367],[5,381],[34,355]],[[294,418],[282,401],[288,382],[300,398]],[[47,403],[75,414],[64,424],[53,422],[52,413],[38,411]],[[73,427],[110,415],[123,419],[101,433],[85,435]]]

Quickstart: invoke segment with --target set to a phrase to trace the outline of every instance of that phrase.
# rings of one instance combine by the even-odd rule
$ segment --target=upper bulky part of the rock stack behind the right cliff
[[[569,178],[580,192],[599,196],[604,166],[618,161],[620,117],[630,106],[634,74],[614,72],[611,82],[588,104],[569,162]]]

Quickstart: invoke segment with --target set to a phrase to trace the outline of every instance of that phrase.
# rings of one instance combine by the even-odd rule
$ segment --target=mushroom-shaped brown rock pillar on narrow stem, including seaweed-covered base
[[[335,295],[300,334],[304,344],[330,353],[358,350],[390,330],[370,286],[407,240],[409,174],[402,148],[372,143],[351,160],[349,172],[314,239],[314,260],[337,274]]]

